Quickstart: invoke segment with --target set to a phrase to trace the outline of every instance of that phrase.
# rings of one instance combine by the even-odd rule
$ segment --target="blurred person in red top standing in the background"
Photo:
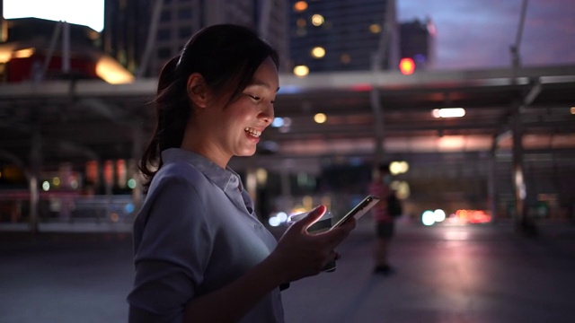
[[[401,215],[397,210],[399,200],[394,191],[389,187],[391,173],[389,164],[379,164],[374,171],[374,178],[369,185],[369,194],[380,196],[381,201],[372,209],[376,223],[376,243],[374,246],[374,274],[390,275],[394,273],[394,267],[389,264],[389,247],[394,237],[395,217]]]

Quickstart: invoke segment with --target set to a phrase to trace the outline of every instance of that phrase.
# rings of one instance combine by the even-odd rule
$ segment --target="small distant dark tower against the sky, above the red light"
[[[410,57],[416,69],[429,69],[435,62],[436,28],[431,19],[400,23],[402,57]]]

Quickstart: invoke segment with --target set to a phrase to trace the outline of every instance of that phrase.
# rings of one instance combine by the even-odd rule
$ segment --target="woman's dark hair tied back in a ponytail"
[[[201,74],[215,95],[232,91],[230,103],[241,95],[267,57],[279,67],[278,52],[254,31],[234,24],[217,24],[195,33],[181,55],[164,65],[155,97],[155,132],[138,165],[146,177],[145,192],[163,165],[161,153],[181,146],[192,115],[187,91],[190,74]]]

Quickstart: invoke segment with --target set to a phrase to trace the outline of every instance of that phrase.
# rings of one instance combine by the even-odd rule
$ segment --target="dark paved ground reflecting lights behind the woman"
[[[371,273],[371,223],[339,249],[334,273],[283,292],[288,322],[575,322],[575,227],[537,239],[509,225],[403,224],[397,273]],[[125,322],[128,233],[0,232],[0,322]]]

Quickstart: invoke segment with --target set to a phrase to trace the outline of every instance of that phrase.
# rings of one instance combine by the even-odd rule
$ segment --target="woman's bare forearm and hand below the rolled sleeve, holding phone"
[[[233,283],[192,299],[186,305],[184,322],[237,321],[279,284],[319,274],[336,257],[333,249],[355,227],[355,221],[350,221],[332,231],[307,233],[307,227],[324,212],[325,206],[319,206],[290,226],[270,256]]]

